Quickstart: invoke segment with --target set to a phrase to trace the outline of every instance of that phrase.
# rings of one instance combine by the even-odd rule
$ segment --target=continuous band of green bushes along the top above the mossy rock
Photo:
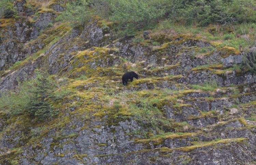
[[[114,29],[119,33],[134,35],[137,30],[152,28],[163,19],[198,26],[255,23],[254,7],[253,0],[76,0],[66,4],[67,10],[58,20],[77,25],[91,15],[99,15],[117,23]]]

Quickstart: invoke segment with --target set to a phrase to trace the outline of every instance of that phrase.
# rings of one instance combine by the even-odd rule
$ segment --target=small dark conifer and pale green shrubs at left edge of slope
[[[33,80],[24,80],[19,83],[14,92],[2,92],[0,97],[0,111],[8,115],[19,115],[28,112],[32,117],[43,120],[58,112],[48,103],[54,89],[53,81],[45,74],[38,74]],[[70,91],[55,92],[55,100],[64,97]]]

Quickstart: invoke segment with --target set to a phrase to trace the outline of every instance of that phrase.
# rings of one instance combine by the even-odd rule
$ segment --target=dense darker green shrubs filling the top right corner
[[[178,17],[178,20],[185,20],[189,24],[198,22],[201,26],[206,26],[216,22],[226,25],[256,20],[253,14],[255,3],[251,0],[178,0],[171,2],[176,3],[171,17]]]

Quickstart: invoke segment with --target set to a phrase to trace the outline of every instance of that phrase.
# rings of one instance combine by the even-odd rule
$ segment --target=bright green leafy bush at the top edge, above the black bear
[[[165,14],[154,2],[146,0],[111,0],[113,12],[110,20],[117,21],[121,34],[132,36],[135,31],[147,27]],[[157,3],[158,4],[158,3]]]

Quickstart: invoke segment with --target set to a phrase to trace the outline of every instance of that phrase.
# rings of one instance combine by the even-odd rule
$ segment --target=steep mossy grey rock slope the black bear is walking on
[[[45,29],[57,9],[1,26],[2,91],[47,70],[56,92],[69,93],[49,99],[59,115],[44,122],[1,109],[0,164],[255,163],[256,77],[233,65],[242,62],[236,48],[185,32],[117,38],[97,16]],[[7,35],[16,24],[45,30]],[[139,79],[124,87],[127,71]]]

